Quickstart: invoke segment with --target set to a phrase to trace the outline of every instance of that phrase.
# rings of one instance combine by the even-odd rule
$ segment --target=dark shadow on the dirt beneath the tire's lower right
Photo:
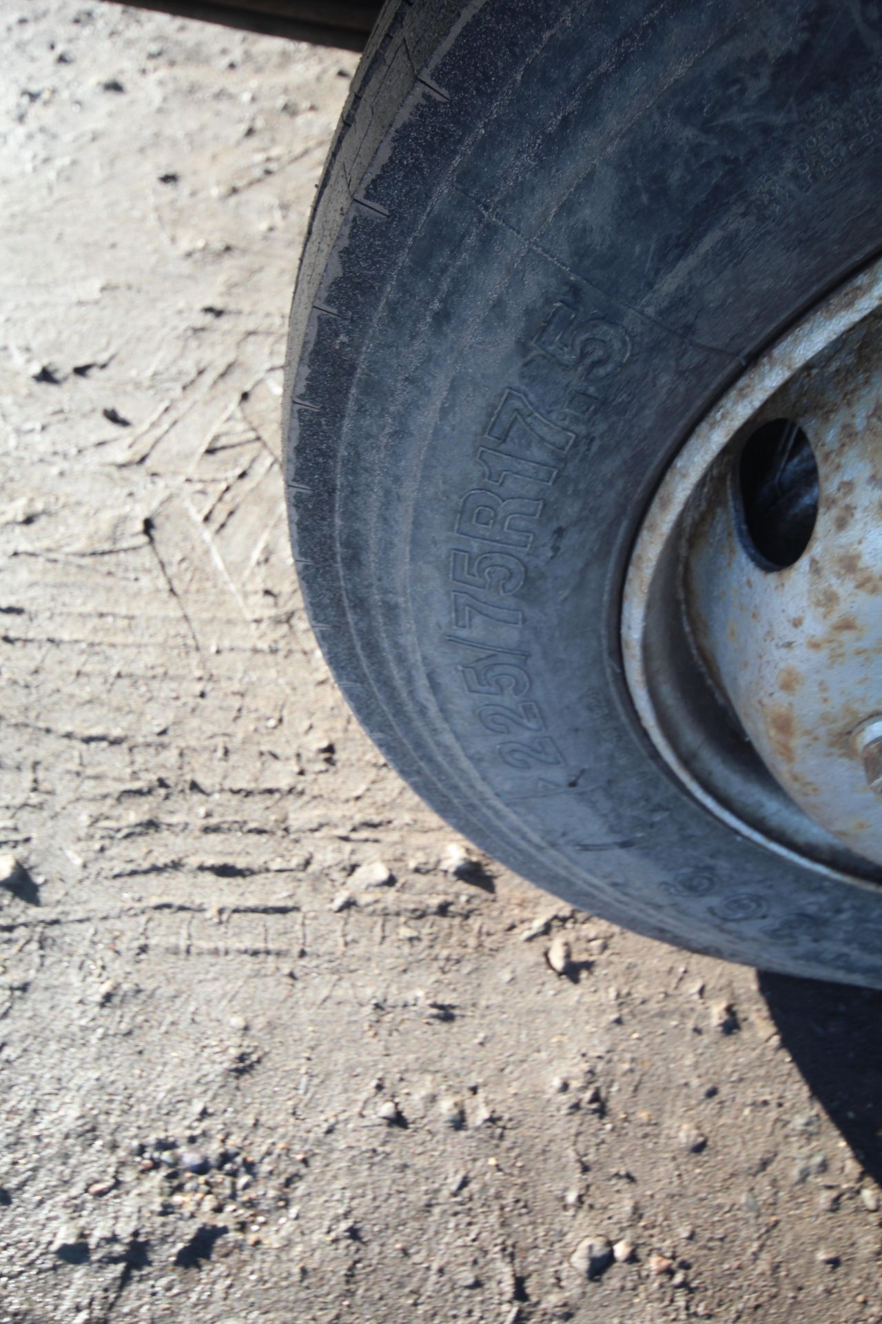
[[[857,1160],[882,1181],[882,992],[760,974],[782,1042]]]

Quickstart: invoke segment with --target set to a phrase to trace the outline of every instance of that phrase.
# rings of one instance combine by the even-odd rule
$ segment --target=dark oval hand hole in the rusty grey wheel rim
[[[742,542],[764,571],[793,565],[817,519],[819,475],[812,444],[792,418],[762,424],[738,459]]]

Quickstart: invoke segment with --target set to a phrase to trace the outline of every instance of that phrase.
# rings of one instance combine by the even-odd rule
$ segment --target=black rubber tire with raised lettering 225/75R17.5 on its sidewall
[[[689,429],[882,244],[881,70],[860,0],[386,5],[286,395],[308,610],[417,790],[579,907],[873,985],[882,891],[689,797],[629,703],[619,612]]]

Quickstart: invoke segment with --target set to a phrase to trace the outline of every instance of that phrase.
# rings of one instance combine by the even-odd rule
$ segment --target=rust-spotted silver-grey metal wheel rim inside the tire
[[[647,512],[621,636],[692,793],[809,867],[882,882],[882,261],[751,365]]]

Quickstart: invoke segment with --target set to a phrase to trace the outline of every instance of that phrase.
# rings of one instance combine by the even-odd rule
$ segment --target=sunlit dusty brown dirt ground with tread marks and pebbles
[[[354,57],[0,30],[1,1324],[881,1320],[879,994],[471,865],[316,649],[280,365]]]

